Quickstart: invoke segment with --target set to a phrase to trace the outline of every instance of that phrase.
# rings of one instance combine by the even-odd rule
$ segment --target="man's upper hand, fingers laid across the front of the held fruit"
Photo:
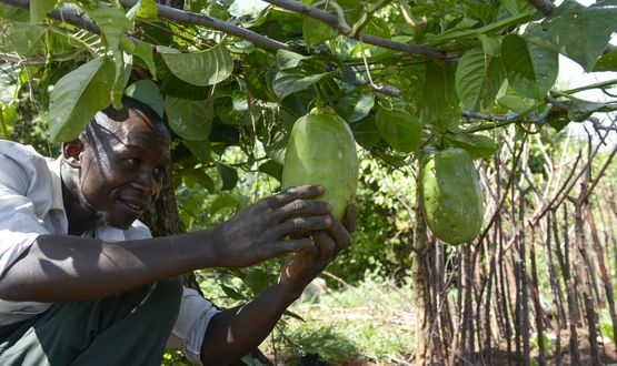
[[[217,227],[220,266],[249,266],[314,247],[306,233],[328,230],[332,225],[330,205],[308,200],[322,193],[324,187],[318,185],[290,187],[240,211]]]

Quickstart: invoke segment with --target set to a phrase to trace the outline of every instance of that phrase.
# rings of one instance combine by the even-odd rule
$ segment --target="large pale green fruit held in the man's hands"
[[[317,200],[332,206],[342,220],[356,197],[358,155],[354,134],[334,111],[314,109],[296,121],[285,153],[282,187],[320,184],[326,192]]]

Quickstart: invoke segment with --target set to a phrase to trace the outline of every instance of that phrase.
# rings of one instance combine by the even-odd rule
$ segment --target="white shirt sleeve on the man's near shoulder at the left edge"
[[[34,242],[48,234],[27,196],[29,179],[12,159],[0,154],[0,275]]]

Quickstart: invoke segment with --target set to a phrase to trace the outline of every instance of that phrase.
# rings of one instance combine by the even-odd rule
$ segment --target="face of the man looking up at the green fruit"
[[[127,228],[160,192],[170,165],[169,136],[133,110],[125,122],[94,129],[81,155],[81,205]]]

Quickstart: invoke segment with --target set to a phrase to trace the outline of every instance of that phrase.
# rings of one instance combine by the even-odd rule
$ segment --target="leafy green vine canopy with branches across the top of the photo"
[[[496,145],[482,131],[563,129],[616,109],[555,82],[559,53],[586,71],[617,71],[608,44],[617,0],[567,0],[548,14],[524,0],[187,0],[182,10],[152,0],[21,1],[0,0],[1,51],[19,61],[19,78],[4,85],[38,85],[51,139],[76,136],[128,93],[167,116],[179,171],[208,190],[203,167],[223,189],[237,182],[233,167],[213,163],[228,145],[280,179],[290,126],[316,105],[332,106],[367,152],[392,165],[428,145],[488,157]],[[7,138],[18,94],[0,101]]]

